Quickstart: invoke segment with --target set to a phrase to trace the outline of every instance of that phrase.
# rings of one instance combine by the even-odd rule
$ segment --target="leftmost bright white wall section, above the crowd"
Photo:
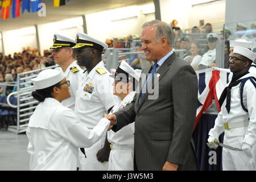
[[[22,52],[23,47],[37,48],[35,27],[3,31],[2,36],[5,55]]]

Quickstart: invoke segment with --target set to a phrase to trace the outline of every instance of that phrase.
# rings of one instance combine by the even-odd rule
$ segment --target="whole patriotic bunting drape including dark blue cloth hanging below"
[[[214,127],[217,114],[203,114],[205,110],[212,104],[214,99],[218,111],[220,106],[218,100],[229,82],[229,69],[209,68],[196,71],[199,82],[198,92],[198,108],[196,112],[196,122],[194,125],[193,139],[195,142],[197,161],[199,162],[201,171],[220,171],[222,168],[222,147],[216,150],[207,146],[208,133]],[[223,142],[224,134],[219,137],[220,142]],[[216,164],[210,164],[210,152],[216,152]]]

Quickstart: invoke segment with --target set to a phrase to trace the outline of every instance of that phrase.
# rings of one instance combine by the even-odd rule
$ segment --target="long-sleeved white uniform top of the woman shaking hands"
[[[36,107],[27,128],[30,170],[76,170],[78,147],[90,147],[109,127],[101,120],[89,130],[74,111],[54,98],[46,98]]]

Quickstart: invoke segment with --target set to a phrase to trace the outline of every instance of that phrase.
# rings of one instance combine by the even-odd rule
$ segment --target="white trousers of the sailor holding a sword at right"
[[[225,137],[224,144],[242,148],[244,136]],[[222,148],[223,171],[254,171],[255,170],[255,145],[252,147],[253,158],[249,158],[243,151]]]

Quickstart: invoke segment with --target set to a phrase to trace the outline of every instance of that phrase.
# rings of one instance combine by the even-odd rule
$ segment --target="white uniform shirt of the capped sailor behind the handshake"
[[[113,114],[118,110],[125,108],[127,104],[133,101],[134,95],[135,92],[129,93],[122,101],[120,100],[119,103],[113,107],[109,114]],[[122,127],[122,129],[117,132],[112,130],[108,131],[108,140],[109,143],[112,143],[113,145],[134,148],[134,122]]]

